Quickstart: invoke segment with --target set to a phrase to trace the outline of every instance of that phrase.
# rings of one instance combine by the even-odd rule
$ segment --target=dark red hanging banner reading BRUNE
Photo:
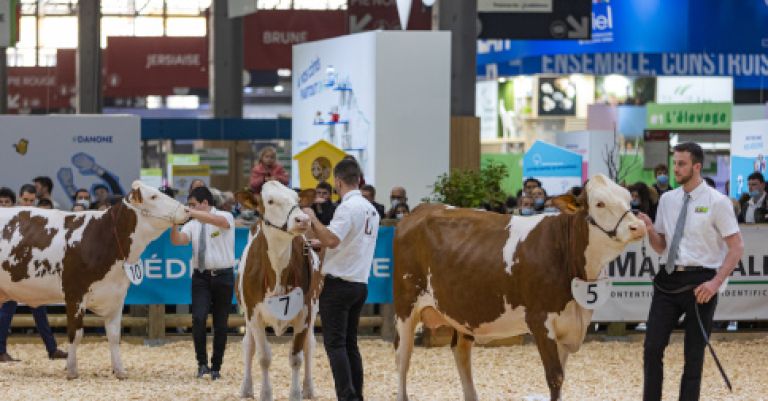
[[[346,33],[343,11],[259,11],[243,19],[245,69],[291,68],[291,46]]]

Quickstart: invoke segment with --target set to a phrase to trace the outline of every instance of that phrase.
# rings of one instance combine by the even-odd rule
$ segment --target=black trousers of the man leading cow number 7
[[[363,401],[363,359],[357,347],[357,326],[367,297],[367,284],[325,276],[320,294],[323,345],[339,401]]]

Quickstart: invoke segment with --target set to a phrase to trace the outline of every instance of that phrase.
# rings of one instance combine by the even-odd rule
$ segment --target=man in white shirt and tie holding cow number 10
[[[192,337],[197,357],[197,377],[210,373],[221,378],[227,345],[227,320],[232,308],[235,265],[235,221],[232,213],[216,210],[207,187],[192,190],[187,200],[190,220],[181,231],[171,230],[174,245],[192,243]],[[205,321],[213,315],[213,356],[208,367]]]

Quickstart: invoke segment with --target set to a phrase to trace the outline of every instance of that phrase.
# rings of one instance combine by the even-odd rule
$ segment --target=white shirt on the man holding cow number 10
[[[224,229],[212,224],[205,225],[206,244],[205,244],[205,266],[206,270],[218,270],[233,267],[235,265],[235,218],[232,213],[224,210],[211,208],[211,214],[222,216],[227,219],[229,228]],[[197,250],[200,246],[200,221],[190,220],[181,232],[186,234],[192,243],[192,269],[197,270],[199,263],[197,260]]]

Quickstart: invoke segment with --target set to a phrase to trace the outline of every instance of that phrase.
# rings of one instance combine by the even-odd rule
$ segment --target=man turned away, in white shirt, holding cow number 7
[[[357,326],[368,296],[379,213],[358,189],[361,171],[356,161],[340,161],[333,175],[341,203],[331,224],[323,226],[312,209],[306,208],[304,212],[310,216],[320,244],[329,248],[322,267],[325,279],[320,294],[320,317],[336,398],[362,401],[363,360],[357,347]]]

